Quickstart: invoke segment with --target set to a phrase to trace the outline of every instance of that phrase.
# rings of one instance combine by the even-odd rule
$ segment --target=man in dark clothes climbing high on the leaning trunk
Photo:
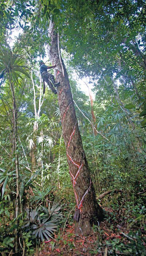
[[[54,76],[51,73],[47,72],[47,69],[53,69],[54,67],[56,67],[56,65],[46,66],[45,63],[41,61],[39,66],[40,66],[41,77],[43,79],[43,94],[45,94],[45,82],[49,85],[50,89],[54,92],[54,94],[57,94],[57,91],[54,89],[54,87],[56,87],[60,83],[58,82],[56,84],[54,80]]]

